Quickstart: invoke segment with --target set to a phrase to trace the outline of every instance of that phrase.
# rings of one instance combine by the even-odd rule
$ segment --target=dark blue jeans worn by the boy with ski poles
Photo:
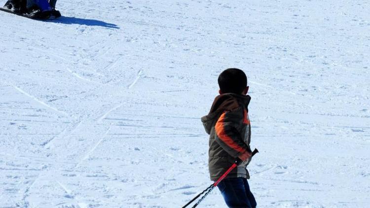
[[[218,185],[229,208],[255,208],[257,202],[249,189],[247,178],[225,178]]]

